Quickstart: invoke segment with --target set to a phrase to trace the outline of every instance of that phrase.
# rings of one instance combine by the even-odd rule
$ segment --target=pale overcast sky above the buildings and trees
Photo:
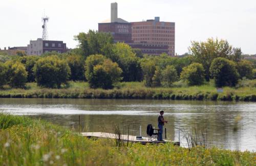
[[[50,17],[50,40],[63,40],[69,48],[79,32],[97,30],[110,18],[110,3],[118,3],[118,17],[142,21],[160,17],[176,22],[176,53],[188,51],[191,40],[227,39],[245,54],[256,54],[256,1],[254,0],[8,0],[0,2],[0,48],[25,46],[41,38],[44,13]]]

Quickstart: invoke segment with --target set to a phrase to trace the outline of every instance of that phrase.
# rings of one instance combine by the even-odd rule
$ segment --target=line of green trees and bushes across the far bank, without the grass
[[[59,88],[69,80],[88,81],[92,88],[113,88],[120,81],[143,81],[147,87],[171,87],[176,81],[189,86],[211,79],[217,87],[235,86],[239,79],[255,79],[256,69],[244,60],[240,48],[226,40],[209,38],[191,42],[190,55],[143,55],[111,34],[89,31],[74,37],[78,47],[65,54],[45,53],[0,59],[0,87],[24,88],[26,82]],[[2,62],[1,62],[2,61]]]

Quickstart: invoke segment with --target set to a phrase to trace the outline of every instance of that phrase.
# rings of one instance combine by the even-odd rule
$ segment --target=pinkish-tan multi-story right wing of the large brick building
[[[132,40],[154,45],[168,45],[168,54],[175,55],[175,22],[163,22],[159,17],[132,23]]]

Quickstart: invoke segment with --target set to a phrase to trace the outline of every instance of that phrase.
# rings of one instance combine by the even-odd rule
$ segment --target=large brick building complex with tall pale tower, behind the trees
[[[175,55],[175,22],[159,17],[141,22],[127,22],[117,17],[117,3],[111,4],[111,20],[98,23],[98,31],[111,33],[114,42],[125,42],[143,54]]]

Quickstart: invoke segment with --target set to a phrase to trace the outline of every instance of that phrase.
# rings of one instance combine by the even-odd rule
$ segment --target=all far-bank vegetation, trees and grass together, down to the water
[[[182,58],[143,55],[108,33],[79,33],[75,40],[78,48],[65,54],[0,59],[0,97],[255,101],[255,65],[226,40],[193,41]]]

